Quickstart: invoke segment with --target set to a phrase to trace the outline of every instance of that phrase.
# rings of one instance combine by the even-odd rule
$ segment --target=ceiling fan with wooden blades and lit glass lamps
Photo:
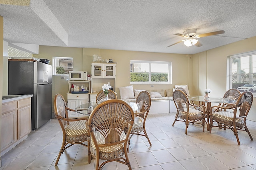
[[[198,39],[194,39],[194,38],[201,38],[201,37],[207,37],[210,35],[217,35],[217,34],[225,33],[224,30],[220,30],[220,31],[214,31],[214,32],[210,32],[210,33],[197,34],[196,31],[197,31],[197,29],[188,29],[188,30],[184,31],[183,34],[176,33],[175,35],[185,37],[186,39],[178,41],[177,43],[174,43],[172,45],[175,45],[175,44],[178,44],[178,43],[181,43],[184,41],[184,44],[187,47],[190,47],[192,45],[196,45],[197,47],[200,47],[202,45],[198,42]],[[171,47],[172,45],[169,45],[167,47]]]

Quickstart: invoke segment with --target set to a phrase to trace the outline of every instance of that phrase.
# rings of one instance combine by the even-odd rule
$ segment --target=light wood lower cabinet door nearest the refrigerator
[[[18,109],[18,139],[31,132],[31,107]]]

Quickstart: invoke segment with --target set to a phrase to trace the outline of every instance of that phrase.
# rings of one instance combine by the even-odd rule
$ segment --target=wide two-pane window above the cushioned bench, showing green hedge
[[[171,83],[171,62],[131,60],[130,72],[131,84]]]

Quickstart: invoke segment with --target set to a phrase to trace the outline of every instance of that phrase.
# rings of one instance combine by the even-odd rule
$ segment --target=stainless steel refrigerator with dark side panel
[[[8,95],[33,94],[32,130],[52,119],[52,66],[41,62],[8,62]]]

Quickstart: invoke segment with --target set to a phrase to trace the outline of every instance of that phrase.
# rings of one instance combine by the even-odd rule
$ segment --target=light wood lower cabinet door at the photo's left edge
[[[2,115],[1,151],[16,141],[16,124],[16,111]]]

